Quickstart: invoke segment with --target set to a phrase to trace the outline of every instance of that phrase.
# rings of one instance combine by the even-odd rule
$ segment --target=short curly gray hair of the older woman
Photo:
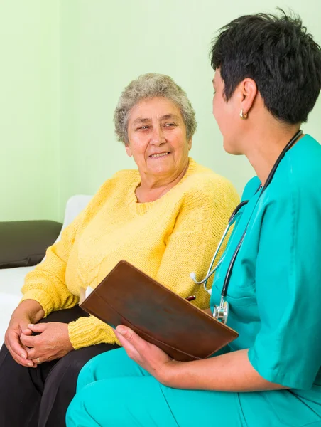
[[[114,112],[115,133],[119,141],[128,144],[128,122],[131,109],[141,100],[165,97],[180,109],[186,126],[186,136],[190,139],[197,127],[195,111],[185,91],[176,85],[169,75],[148,73],[131,81],[119,97]]]

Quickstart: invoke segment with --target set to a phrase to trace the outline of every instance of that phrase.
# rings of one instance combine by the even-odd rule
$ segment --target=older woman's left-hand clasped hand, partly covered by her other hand
[[[4,343],[18,364],[21,364],[23,367],[35,368],[36,364],[28,360],[28,349],[21,342],[22,331],[26,330],[30,322],[31,318],[28,315],[15,316],[13,314],[9,327],[6,330]]]

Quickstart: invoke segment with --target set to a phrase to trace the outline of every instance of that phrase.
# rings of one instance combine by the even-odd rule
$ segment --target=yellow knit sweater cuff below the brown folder
[[[102,342],[119,344],[111,327],[94,316],[80,317],[70,322],[68,332],[75,350]]]

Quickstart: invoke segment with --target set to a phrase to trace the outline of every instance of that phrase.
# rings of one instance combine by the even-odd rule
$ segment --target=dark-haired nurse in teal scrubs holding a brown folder
[[[320,93],[320,46],[298,18],[241,16],[212,67],[224,149],[257,175],[212,286],[213,310],[228,285],[239,338],[175,362],[117,327],[124,349],[82,370],[68,427],[321,426],[321,147],[299,131]]]

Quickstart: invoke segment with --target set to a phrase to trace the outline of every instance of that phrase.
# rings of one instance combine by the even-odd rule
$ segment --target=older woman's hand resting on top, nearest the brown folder
[[[38,332],[39,335],[31,336],[32,332]],[[49,322],[28,325],[23,330],[20,340],[25,347],[31,347],[27,349],[27,354],[28,359],[34,364],[38,364],[39,360],[43,363],[60,359],[73,350],[66,323]]]

